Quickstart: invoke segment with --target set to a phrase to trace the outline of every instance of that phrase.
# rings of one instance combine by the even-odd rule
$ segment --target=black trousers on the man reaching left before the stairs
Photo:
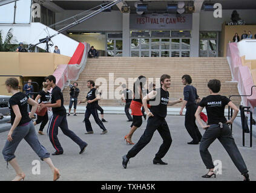
[[[99,125],[99,127],[103,131],[105,131],[106,128],[103,125],[102,121],[99,119],[99,115],[98,115],[96,107],[90,107],[90,108],[86,109],[86,111],[85,111],[85,119],[84,119],[84,121],[85,121],[85,128],[86,128],[87,132],[93,131],[93,128],[91,127],[91,122],[89,120],[91,115],[93,115],[93,118],[94,118],[95,122],[97,123],[97,125]]]

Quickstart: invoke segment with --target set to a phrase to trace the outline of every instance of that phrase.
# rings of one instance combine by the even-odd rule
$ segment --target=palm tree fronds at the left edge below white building
[[[2,30],[0,30],[0,52],[15,51],[15,47],[16,47],[15,43],[18,43],[18,41],[13,36],[12,31],[13,29],[10,28],[10,30],[6,34],[5,39],[3,39]]]

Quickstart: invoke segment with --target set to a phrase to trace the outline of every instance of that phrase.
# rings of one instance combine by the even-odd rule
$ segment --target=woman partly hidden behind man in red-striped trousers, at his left
[[[36,99],[35,99],[36,102],[40,100],[39,104],[48,103],[48,101],[50,100],[50,92],[48,92],[48,90],[50,90],[51,87],[48,86],[46,82],[43,82],[42,85],[43,85],[43,89],[39,91],[38,96],[36,96]],[[37,115],[38,115],[38,119],[34,121],[34,125],[37,125],[42,122],[38,131],[38,133],[42,135],[44,134],[43,133],[44,127],[48,122],[47,107],[42,109],[41,112],[38,112]]]

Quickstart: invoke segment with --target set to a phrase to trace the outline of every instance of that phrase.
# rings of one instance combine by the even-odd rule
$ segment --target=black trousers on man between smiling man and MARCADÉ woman
[[[202,134],[195,124],[195,112],[197,111],[196,105],[190,105],[186,107],[186,114],[185,114],[185,127],[188,131],[188,134],[191,136],[194,142],[200,142],[202,139]]]

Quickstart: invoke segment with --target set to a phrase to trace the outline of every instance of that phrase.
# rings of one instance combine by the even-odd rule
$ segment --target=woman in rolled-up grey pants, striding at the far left
[[[25,93],[19,92],[19,81],[16,78],[7,78],[5,81],[5,87],[8,93],[12,96],[9,99],[10,113],[11,113],[11,129],[8,133],[7,141],[5,142],[2,154],[4,159],[15,169],[16,177],[13,181],[21,181],[25,179],[25,174],[19,167],[15,157],[15,151],[22,139],[30,145],[41,160],[44,160],[51,168],[53,172],[53,180],[59,179],[60,173],[53,162],[51,162],[50,154],[42,146],[36,136],[33,122],[31,121],[32,116],[36,112],[38,103],[25,95]],[[27,105],[32,106],[31,113],[28,115]]]

